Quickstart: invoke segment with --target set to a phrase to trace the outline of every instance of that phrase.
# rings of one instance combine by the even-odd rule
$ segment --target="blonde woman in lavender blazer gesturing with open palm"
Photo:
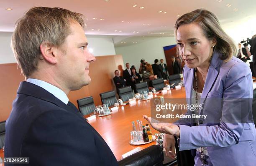
[[[202,9],[186,13],[174,30],[177,53],[185,62],[187,102],[202,104],[197,113],[207,118],[172,124],[151,123],[144,116],[153,128],[166,133],[166,155],[175,156],[176,136],[180,151],[196,149],[195,166],[256,166],[250,68],[233,56],[236,45],[213,13]]]

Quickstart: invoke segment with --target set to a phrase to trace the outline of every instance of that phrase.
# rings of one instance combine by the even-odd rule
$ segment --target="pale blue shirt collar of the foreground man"
[[[49,93],[53,94],[56,98],[58,98],[63,103],[67,104],[69,102],[69,98],[67,97],[66,93],[62,91],[60,88],[57,88],[56,86],[51,85],[50,83],[46,83],[43,80],[38,80],[34,78],[28,78],[27,82],[33,83],[37,86],[40,86],[41,88],[44,88]]]

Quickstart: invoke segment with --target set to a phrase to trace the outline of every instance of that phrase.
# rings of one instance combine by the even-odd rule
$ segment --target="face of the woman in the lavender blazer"
[[[179,55],[189,68],[209,67],[216,40],[208,40],[196,23],[181,25],[177,30]]]

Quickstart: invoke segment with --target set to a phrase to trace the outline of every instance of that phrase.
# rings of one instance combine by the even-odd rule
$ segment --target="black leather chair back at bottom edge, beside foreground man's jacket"
[[[159,145],[152,145],[120,161],[119,166],[163,166],[164,153]]]

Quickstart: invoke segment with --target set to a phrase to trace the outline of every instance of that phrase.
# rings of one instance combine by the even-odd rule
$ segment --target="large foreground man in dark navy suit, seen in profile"
[[[31,166],[118,165],[67,97],[91,81],[95,57],[82,27],[82,14],[61,8],[34,7],[18,20],[12,48],[26,81],[6,121],[6,158],[28,157]]]

